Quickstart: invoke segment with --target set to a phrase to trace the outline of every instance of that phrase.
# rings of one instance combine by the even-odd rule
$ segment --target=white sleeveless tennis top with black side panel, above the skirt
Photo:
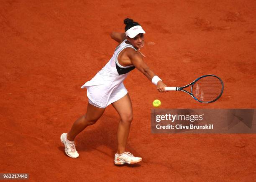
[[[95,77],[92,78],[92,80],[86,82],[81,88],[103,84],[110,84],[111,87],[117,87],[123,82],[128,76],[128,72],[135,68],[134,65],[122,66],[118,63],[118,55],[123,49],[131,47],[136,50],[132,45],[126,44],[126,41],[127,40],[125,39],[115,48],[115,52],[108,63],[95,75]]]

